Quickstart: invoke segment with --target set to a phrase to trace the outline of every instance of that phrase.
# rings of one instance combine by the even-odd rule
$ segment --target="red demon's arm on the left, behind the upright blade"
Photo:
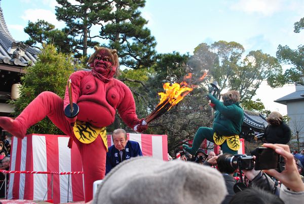
[[[73,103],[77,104],[78,98],[81,94],[81,80],[84,77],[84,73],[85,71],[78,71],[78,72],[74,72],[73,74],[71,74],[71,76],[69,77],[69,80],[71,80],[72,82],[72,99],[73,99]],[[68,89],[66,86],[65,89],[65,94],[64,94],[64,109],[65,107],[69,105],[69,96],[68,96]]]

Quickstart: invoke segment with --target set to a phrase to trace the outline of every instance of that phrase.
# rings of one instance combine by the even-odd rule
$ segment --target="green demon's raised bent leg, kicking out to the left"
[[[213,133],[214,131],[212,128],[200,127],[194,136],[192,148],[188,147],[187,145],[182,145],[182,147],[185,151],[189,152],[192,155],[195,155],[204,139],[207,139],[210,142],[214,142]]]

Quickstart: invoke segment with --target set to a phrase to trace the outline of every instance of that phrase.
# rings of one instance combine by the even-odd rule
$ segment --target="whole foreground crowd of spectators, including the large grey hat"
[[[232,154],[206,154],[201,149],[192,157],[182,155],[181,159],[169,162],[136,157],[113,168],[98,188],[92,202],[303,203],[303,177],[299,174],[296,163],[301,162],[304,155],[293,155],[289,146],[284,144],[263,146],[275,150],[284,158],[283,171],[261,171],[254,168],[240,171],[229,162]],[[198,162],[198,158],[205,160]],[[237,173],[244,183],[237,179]]]

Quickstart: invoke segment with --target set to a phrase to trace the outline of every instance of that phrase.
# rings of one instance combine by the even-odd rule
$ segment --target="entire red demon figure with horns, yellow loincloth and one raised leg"
[[[65,134],[70,136],[82,155],[85,177],[85,201],[93,198],[93,182],[103,179],[107,152],[105,127],[112,124],[116,110],[135,131],[147,128],[135,113],[132,92],[121,81],[113,78],[119,69],[116,50],[94,47],[90,57],[92,71],[74,72],[71,81],[73,103],[79,107],[74,117],[66,117],[70,109],[68,88],[64,100],[53,92],[39,94],[15,119],[0,117],[0,126],[18,138],[23,138],[27,128],[48,116]],[[76,108],[78,108],[76,107]],[[70,143],[69,142],[69,147]]]

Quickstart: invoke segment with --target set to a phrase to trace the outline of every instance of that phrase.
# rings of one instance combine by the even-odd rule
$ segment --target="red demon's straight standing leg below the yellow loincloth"
[[[106,148],[99,135],[90,144],[83,144],[77,139],[74,141],[77,143],[82,157],[85,176],[85,202],[88,202],[93,199],[94,181],[103,179],[105,175]]]

